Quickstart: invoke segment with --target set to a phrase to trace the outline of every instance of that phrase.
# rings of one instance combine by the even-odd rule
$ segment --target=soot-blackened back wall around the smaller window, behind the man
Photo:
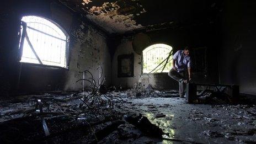
[[[137,36],[146,35],[146,36]],[[136,42],[135,42],[136,41]],[[140,42],[137,42],[140,41]],[[163,29],[157,31],[144,32],[122,38],[117,46],[112,60],[112,82],[115,86],[127,88],[133,87],[133,84],[141,78],[142,83],[147,86],[152,84],[156,89],[177,89],[178,83],[169,78],[167,73],[142,74],[141,73],[141,54],[136,54],[134,48],[145,49],[152,44],[168,44],[173,47],[174,52],[184,49],[186,45],[196,47],[207,47],[207,74],[194,75],[193,82],[197,83],[217,83],[218,82],[218,64],[216,45],[216,25],[188,25],[176,29]],[[118,56],[123,54],[134,54],[134,77],[118,77]]]

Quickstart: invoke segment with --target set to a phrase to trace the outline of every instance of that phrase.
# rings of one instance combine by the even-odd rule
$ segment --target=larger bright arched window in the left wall
[[[25,38],[20,62],[67,68],[68,35],[49,19],[25,16]]]

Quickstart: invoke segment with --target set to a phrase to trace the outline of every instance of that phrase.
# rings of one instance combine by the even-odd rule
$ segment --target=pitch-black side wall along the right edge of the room
[[[255,7],[255,1],[225,1],[220,22],[221,83],[247,94],[256,94]]]

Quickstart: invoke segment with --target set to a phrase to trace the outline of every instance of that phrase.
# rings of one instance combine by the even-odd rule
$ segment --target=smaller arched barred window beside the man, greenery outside
[[[154,44],[143,53],[143,73],[168,72],[172,67],[172,46]]]

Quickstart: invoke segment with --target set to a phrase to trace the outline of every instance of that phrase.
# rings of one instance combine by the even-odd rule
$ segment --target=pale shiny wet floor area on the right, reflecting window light
[[[255,105],[187,104],[180,98],[127,99],[169,138],[200,143],[255,143]],[[156,115],[165,116],[156,118]],[[179,143],[163,140],[162,143]]]

